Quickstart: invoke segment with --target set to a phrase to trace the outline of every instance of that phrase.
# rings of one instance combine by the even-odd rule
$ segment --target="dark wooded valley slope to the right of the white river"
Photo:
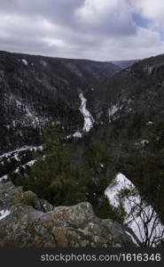
[[[160,214],[164,190],[164,55],[116,74],[101,90],[105,142],[113,143],[117,170]]]

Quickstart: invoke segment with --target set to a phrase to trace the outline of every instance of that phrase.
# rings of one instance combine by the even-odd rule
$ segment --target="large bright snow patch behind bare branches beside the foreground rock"
[[[126,194],[121,194],[125,190]],[[112,206],[124,209],[124,223],[137,235],[140,242],[144,243],[146,240],[146,230],[152,247],[155,246],[153,241],[158,243],[160,236],[164,239],[164,225],[160,223],[158,214],[141,198],[135,185],[125,175],[117,174],[113,183],[105,190],[105,195]]]

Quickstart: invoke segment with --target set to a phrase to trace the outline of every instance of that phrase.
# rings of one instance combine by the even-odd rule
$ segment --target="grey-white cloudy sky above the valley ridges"
[[[164,1],[0,0],[0,50],[96,61],[164,53]]]

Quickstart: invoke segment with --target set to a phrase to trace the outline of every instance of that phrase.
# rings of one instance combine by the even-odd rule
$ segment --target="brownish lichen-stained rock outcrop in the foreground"
[[[0,247],[131,246],[121,225],[96,217],[88,202],[53,207],[12,182],[0,182]]]

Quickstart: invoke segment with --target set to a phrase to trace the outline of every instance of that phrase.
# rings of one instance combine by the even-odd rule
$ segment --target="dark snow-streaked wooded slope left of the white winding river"
[[[41,144],[45,125],[60,124],[67,134],[82,129],[80,93],[119,70],[106,62],[0,52],[0,151]]]

